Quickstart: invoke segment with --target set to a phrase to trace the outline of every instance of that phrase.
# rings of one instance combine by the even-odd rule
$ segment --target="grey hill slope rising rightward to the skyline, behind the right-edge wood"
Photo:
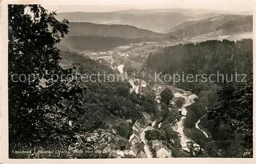
[[[225,22],[230,20],[239,19],[244,17],[244,15],[220,15],[211,17],[208,19],[204,19],[201,21],[196,22],[195,24],[191,24],[185,26],[182,29],[179,29],[175,32],[168,33],[169,35],[174,36],[182,36],[184,37],[194,37],[200,34],[206,34],[210,32],[216,31],[219,26]]]

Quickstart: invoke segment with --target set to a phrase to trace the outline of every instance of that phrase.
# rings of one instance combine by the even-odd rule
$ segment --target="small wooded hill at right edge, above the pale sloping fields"
[[[229,20],[223,23],[217,30],[223,30],[228,34],[252,32],[252,29],[253,29],[252,19],[253,19],[252,15],[250,15],[240,19]]]

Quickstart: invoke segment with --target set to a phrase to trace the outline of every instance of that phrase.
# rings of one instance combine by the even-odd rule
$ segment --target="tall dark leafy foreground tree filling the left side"
[[[31,14],[27,14],[29,10]],[[82,130],[84,89],[58,65],[54,44],[68,33],[68,21],[57,21],[40,5],[8,6],[9,145],[68,149]],[[22,75],[17,79],[14,75]],[[55,75],[55,76],[53,76]],[[59,80],[61,77],[66,80]],[[30,77],[30,78],[29,78]],[[40,81],[44,77],[45,83]],[[69,125],[72,123],[72,125]],[[88,129],[89,130],[89,129]]]

